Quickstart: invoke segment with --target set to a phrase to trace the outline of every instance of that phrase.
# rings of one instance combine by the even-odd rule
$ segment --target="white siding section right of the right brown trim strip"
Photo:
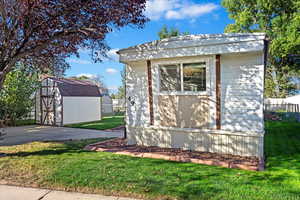
[[[221,56],[221,127],[263,132],[263,54]]]

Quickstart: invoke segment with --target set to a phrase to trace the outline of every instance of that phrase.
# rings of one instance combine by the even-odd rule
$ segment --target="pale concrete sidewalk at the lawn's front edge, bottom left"
[[[134,200],[134,199],[0,185],[0,200]]]

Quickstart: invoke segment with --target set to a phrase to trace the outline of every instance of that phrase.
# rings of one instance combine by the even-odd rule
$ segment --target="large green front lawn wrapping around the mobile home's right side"
[[[300,123],[266,123],[263,172],[82,150],[95,141],[0,147],[0,180],[151,199],[300,199]]]

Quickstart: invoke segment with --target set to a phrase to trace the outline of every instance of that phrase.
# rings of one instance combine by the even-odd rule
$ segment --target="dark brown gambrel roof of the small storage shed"
[[[75,97],[100,97],[100,90],[97,85],[90,81],[74,80],[66,78],[49,77],[57,83],[57,87],[62,96]]]

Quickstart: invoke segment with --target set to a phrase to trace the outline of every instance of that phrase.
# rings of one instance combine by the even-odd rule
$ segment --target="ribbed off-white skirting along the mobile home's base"
[[[263,158],[263,134],[127,127],[128,144]]]

